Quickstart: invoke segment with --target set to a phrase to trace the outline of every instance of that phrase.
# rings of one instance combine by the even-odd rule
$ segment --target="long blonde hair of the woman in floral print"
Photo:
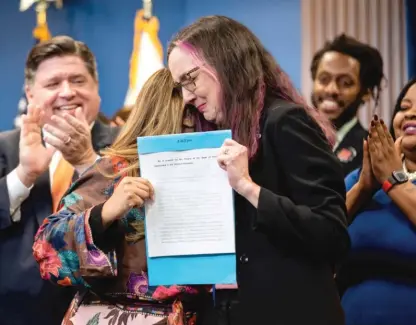
[[[103,156],[128,161],[128,167],[116,175],[138,176],[137,137],[181,133],[184,110],[181,92],[175,88],[169,70],[156,71],[143,85],[113,145],[101,151]]]

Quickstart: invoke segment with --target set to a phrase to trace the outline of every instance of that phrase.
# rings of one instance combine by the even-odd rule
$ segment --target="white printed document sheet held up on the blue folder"
[[[149,257],[235,252],[233,194],[218,151],[140,156],[141,176],[155,188],[145,206]]]

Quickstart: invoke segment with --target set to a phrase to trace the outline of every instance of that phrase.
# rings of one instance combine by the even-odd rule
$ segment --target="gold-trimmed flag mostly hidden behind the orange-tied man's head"
[[[49,2],[56,2],[57,7],[62,5],[62,0],[48,0]],[[51,39],[51,33],[48,28],[48,23],[46,21],[46,10],[47,10],[47,3],[46,1],[39,1],[39,0],[21,0],[20,1],[20,11],[26,11],[29,9],[34,3],[37,3],[36,6],[36,21],[37,25],[32,31],[33,39],[35,44],[38,42],[43,42]],[[22,97],[20,98],[17,104],[17,116],[14,119],[14,127],[20,127],[20,120],[21,115],[25,114],[27,110],[27,98],[25,95],[25,87],[23,85],[22,89]]]

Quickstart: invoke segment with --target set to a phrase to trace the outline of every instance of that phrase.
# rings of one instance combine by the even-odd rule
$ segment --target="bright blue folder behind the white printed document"
[[[139,137],[137,145],[140,158],[156,152],[219,148],[227,138],[230,130]],[[235,253],[147,257],[147,265],[151,286],[237,282]]]

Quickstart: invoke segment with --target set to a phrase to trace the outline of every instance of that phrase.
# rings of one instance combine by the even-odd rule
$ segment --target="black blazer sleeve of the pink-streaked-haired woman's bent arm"
[[[318,258],[339,260],[350,247],[341,165],[303,108],[273,115],[265,132],[289,193],[261,188],[256,227]]]

